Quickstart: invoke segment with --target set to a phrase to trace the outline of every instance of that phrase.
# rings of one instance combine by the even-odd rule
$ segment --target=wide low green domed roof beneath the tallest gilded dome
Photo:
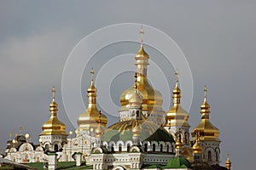
[[[163,127],[158,127],[156,124],[154,124],[154,122],[149,122],[147,120],[137,120],[137,122],[142,129],[141,141],[174,142],[172,135],[167,133]],[[136,120],[114,123],[112,126],[108,127],[108,131],[104,133],[104,141],[132,141],[132,128],[135,126]]]

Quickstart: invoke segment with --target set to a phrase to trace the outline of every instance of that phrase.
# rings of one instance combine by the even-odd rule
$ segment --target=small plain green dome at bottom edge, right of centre
[[[166,168],[191,168],[191,164],[184,157],[174,157],[168,161]]]

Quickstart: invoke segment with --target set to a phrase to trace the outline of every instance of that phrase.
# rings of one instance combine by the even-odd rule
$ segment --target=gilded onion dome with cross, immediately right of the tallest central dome
[[[178,87],[177,71],[176,85],[172,90],[173,106],[172,109],[166,112],[166,127],[190,127],[189,125],[189,113],[181,106],[181,90]]]

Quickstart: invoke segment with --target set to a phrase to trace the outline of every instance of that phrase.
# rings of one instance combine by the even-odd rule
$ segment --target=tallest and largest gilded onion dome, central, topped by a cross
[[[137,87],[140,94],[143,96],[143,111],[162,111],[163,98],[159,91],[154,90],[152,86],[148,83],[147,78],[147,67],[149,55],[143,48],[143,29],[140,31],[142,35],[141,48],[135,55],[136,66],[137,66]],[[129,99],[133,94],[133,86],[126,89],[120,96],[121,109],[120,111],[129,110]]]

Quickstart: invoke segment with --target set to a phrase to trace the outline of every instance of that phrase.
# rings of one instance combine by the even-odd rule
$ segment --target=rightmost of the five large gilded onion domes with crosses
[[[201,123],[192,131],[192,137],[195,139],[195,133],[201,133],[201,141],[220,141],[218,139],[219,130],[210,122],[210,105],[207,103],[207,87],[204,89],[205,99],[201,105]]]

